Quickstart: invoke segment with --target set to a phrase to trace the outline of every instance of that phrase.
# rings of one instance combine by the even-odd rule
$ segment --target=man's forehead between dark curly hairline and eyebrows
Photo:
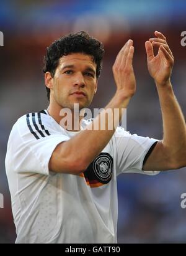
[[[63,55],[59,61],[60,68],[63,68],[65,65],[76,65],[76,64],[89,65],[90,67],[92,68],[94,67],[94,69],[96,69],[96,64],[93,60],[93,57],[87,54],[75,53],[75,54]]]

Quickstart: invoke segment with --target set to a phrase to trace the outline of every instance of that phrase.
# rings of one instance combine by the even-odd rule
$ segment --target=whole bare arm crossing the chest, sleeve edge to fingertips
[[[122,109],[127,107],[136,90],[132,66],[134,53],[132,45],[132,40],[126,42],[113,65],[113,75],[117,85],[114,97],[104,111],[99,113],[94,121],[86,127],[86,130],[56,147],[49,163],[49,168],[52,171],[70,174],[82,173],[107,146],[122,118]],[[116,109],[117,111],[115,111]],[[105,112],[111,115],[105,114]]]

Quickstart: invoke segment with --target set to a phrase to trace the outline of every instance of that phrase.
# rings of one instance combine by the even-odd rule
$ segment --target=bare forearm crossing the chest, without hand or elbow
[[[123,97],[122,93],[117,92],[105,107],[105,111],[109,110],[114,113],[114,109],[117,108],[119,115],[113,115],[113,118],[112,116],[110,118],[109,115],[105,115],[104,111],[102,111],[87,126],[86,130],[81,131],[71,140],[63,143],[60,154],[65,154],[66,158],[75,158],[77,163],[82,163],[82,165],[80,164],[81,168],[86,169],[112,138],[115,128],[122,118],[122,109],[127,107],[129,101],[130,97]],[[102,130],[100,122],[105,122],[104,130]],[[108,130],[108,128],[111,128],[111,130]]]

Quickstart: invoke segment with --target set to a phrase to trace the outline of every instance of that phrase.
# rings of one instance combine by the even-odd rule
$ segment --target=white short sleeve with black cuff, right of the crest
[[[131,135],[118,127],[113,138],[113,152],[117,175],[120,173],[141,173],[154,175],[159,171],[143,171],[143,161],[151,146],[158,140]]]

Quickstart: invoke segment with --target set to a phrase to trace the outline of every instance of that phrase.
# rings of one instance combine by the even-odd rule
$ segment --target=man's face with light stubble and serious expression
[[[88,107],[97,90],[92,56],[75,53],[61,57],[51,85],[51,99],[61,108],[73,110],[74,103],[79,103],[79,110]]]

